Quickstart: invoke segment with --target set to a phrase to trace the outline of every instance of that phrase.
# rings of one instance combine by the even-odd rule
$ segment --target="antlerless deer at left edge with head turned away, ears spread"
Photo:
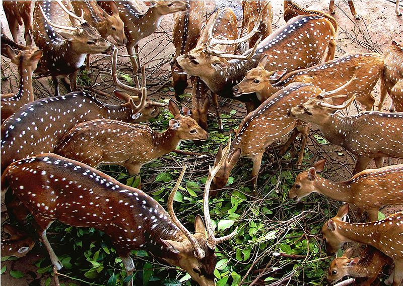
[[[29,50],[17,52],[10,46],[6,46],[7,54],[11,61],[18,66],[20,74],[20,88],[16,93],[1,95],[1,123],[13,115],[25,104],[34,101],[34,91],[32,89],[32,74],[42,56],[42,50],[31,48]]]

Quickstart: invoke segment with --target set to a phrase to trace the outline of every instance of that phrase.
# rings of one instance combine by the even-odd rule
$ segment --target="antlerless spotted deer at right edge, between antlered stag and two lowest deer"
[[[403,164],[367,169],[342,182],[332,182],[316,175],[321,172],[326,159],[321,159],[308,170],[298,174],[288,193],[299,202],[311,193],[319,193],[333,200],[353,204],[359,217],[368,213],[369,221],[378,219],[379,208],[384,205],[403,204]]]

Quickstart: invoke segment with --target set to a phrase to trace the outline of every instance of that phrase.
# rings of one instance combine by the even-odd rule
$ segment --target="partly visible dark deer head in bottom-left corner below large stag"
[[[15,256],[21,258],[27,255],[34,247],[35,242],[33,239],[20,233],[11,224],[5,223],[3,230],[10,235],[10,238],[2,238],[2,257]]]

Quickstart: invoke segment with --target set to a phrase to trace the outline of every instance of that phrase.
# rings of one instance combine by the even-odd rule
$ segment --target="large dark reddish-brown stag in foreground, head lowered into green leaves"
[[[211,170],[207,178],[204,196],[206,227],[201,216],[197,215],[195,234],[179,222],[173,211],[174,195],[185,167],[168,198],[169,214],[140,189],[52,153],[14,162],[2,175],[2,185],[10,184],[32,213],[56,274],[62,264],[47,240],[46,230],[57,219],[67,225],[93,227],[110,236],[128,275],[135,270],[131,250],[144,249],[154,257],[181,267],[199,285],[213,286],[216,245],[232,238],[237,231],[235,229],[232,234],[221,238],[214,236],[208,200],[212,176],[221,164]],[[131,280],[129,285],[132,284]]]

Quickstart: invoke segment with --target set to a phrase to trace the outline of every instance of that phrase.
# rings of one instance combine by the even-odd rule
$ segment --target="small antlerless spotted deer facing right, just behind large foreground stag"
[[[163,133],[145,125],[97,119],[66,133],[54,152],[94,168],[100,164],[122,165],[130,175],[136,175],[144,164],[172,152],[183,140],[207,140],[207,132],[188,116],[187,107],[182,107],[183,116],[170,100],[169,111],[174,118]]]

